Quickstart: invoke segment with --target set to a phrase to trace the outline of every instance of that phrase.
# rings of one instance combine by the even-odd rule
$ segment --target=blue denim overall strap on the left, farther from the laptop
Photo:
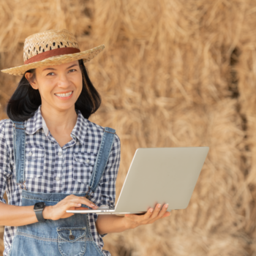
[[[16,167],[16,181],[21,189],[26,190],[25,185],[25,149],[26,149],[26,133],[23,121],[13,121],[13,150]]]

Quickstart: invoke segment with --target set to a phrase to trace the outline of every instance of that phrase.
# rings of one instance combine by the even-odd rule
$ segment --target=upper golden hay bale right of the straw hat
[[[232,24],[241,22],[242,1],[231,7],[207,1],[97,0],[94,6],[93,35],[108,45],[102,56],[108,76],[111,61],[118,61],[118,74],[129,73],[136,87],[154,84],[158,96],[211,104],[230,95],[229,50],[238,34]]]

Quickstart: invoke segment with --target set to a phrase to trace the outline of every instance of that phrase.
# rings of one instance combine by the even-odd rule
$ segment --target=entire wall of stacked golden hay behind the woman
[[[105,249],[113,256],[255,250],[253,1],[3,0],[0,7],[1,68],[22,64],[25,37],[46,29],[69,29],[81,50],[106,45],[87,67],[102,95],[91,121],[115,128],[121,138],[117,196],[136,148],[210,147],[186,210],[110,234]],[[5,118],[18,78],[0,74],[0,80]]]

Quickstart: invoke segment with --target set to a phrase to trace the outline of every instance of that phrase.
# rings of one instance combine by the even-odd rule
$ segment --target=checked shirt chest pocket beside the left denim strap
[[[44,172],[45,149],[44,148],[26,148],[26,178],[41,177]]]

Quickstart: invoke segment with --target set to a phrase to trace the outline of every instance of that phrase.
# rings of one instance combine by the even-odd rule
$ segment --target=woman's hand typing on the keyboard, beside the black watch
[[[45,206],[45,209],[42,211],[42,216],[44,219],[52,219],[52,220],[58,220],[58,219],[66,219],[71,217],[74,214],[67,213],[67,210],[86,210],[88,208],[80,207],[81,205],[89,206],[90,208],[93,208],[96,210],[99,208],[98,206],[95,206],[94,203],[92,203],[90,200],[88,200],[86,197],[78,197],[76,195],[68,195],[63,200],[61,200],[59,203],[57,203],[55,206]]]

